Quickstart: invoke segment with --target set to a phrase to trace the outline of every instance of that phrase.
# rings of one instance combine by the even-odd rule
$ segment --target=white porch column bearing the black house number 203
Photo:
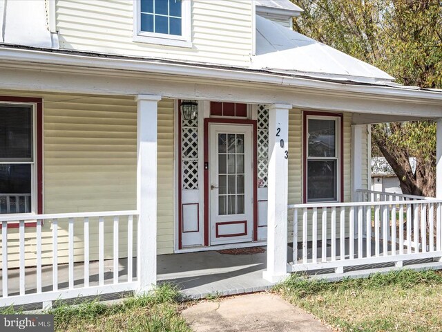
[[[269,107],[267,270],[262,274],[269,282],[287,276],[289,109],[291,105],[287,104]]]

